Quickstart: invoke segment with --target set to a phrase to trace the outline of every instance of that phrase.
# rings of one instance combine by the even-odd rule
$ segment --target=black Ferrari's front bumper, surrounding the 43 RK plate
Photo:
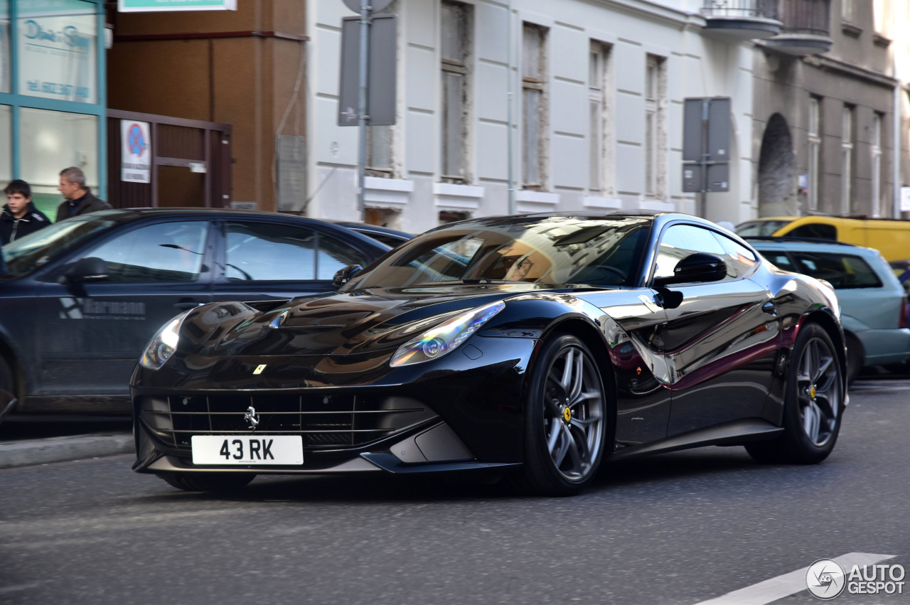
[[[472,338],[471,348],[435,362],[389,368],[370,384],[349,364],[337,376],[311,368],[325,358],[238,359],[216,362],[220,379],[171,369],[137,370],[132,397],[137,472],[255,472],[273,474],[392,473],[486,469],[521,462],[524,371],[535,341]],[[478,353],[480,352],[480,357]],[[362,362],[363,360],[361,360]],[[373,359],[369,368],[384,366]],[[199,359],[180,363],[198,367]],[[275,372],[251,384],[247,365]],[[482,362],[482,363],[481,363]],[[225,372],[226,366],[235,371]],[[253,368],[256,365],[252,366]],[[303,371],[291,372],[289,368]],[[308,369],[310,368],[310,369]],[[265,373],[264,373],[265,374]],[[235,378],[243,376],[243,382]],[[295,378],[295,376],[297,378]],[[277,378],[278,377],[278,378]],[[337,378],[337,379],[333,379]],[[278,387],[278,380],[284,388]],[[175,386],[168,386],[171,381]],[[225,388],[225,387],[229,388]],[[208,388],[206,388],[208,387]],[[254,408],[257,428],[245,415]],[[300,435],[302,465],[201,466],[192,461],[194,435]]]

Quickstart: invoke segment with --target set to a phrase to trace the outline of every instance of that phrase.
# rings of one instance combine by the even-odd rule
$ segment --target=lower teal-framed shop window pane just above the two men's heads
[[[8,139],[7,139],[8,140]],[[64,111],[22,107],[19,110],[21,177],[32,186],[35,204],[45,198],[60,201],[60,171],[78,166],[86,185],[98,186],[98,117]]]

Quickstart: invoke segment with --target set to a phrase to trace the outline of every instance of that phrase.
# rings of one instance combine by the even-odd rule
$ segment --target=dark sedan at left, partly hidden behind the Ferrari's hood
[[[277,213],[144,208],[61,221],[3,247],[0,390],[18,414],[128,415],[136,358],[181,309],[333,291],[340,267],[388,251]]]

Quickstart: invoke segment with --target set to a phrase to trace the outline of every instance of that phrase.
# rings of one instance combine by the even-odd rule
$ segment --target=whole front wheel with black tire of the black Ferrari
[[[591,351],[568,334],[547,340],[531,370],[525,402],[520,486],[548,496],[584,489],[601,465],[612,423]]]

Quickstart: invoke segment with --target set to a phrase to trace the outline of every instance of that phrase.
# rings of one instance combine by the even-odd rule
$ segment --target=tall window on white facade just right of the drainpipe
[[[521,44],[521,116],[524,153],[522,178],[526,188],[546,181],[546,29],[524,24]]]

